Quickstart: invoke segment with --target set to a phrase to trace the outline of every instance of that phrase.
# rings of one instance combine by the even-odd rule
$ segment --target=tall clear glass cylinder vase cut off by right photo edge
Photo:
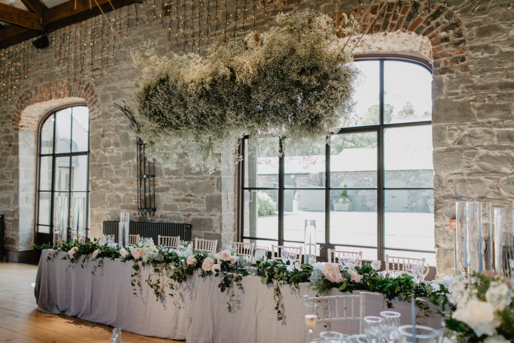
[[[501,275],[514,277],[514,208],[494,208],[494,266]]]

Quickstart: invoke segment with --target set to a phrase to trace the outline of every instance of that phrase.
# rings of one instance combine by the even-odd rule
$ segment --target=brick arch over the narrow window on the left
[[[65,80],[53,81],[23,92],[16,101],[12,118],[14,131],[36,132],[41,115],[60,105],[84,101],[89,109],[89,120],[100,118],[100,101],[90,82],[80,84]]]

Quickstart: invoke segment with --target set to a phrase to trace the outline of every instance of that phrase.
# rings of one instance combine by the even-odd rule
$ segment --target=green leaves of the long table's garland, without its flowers
[[[70,263],[77,263],[79,260],[85,262],[88,258],[91,257],[91,254],[93,254],[94,251],[98,250],[96,257],[98,264],[96,267],[94,267],[93,274],[98,267],[102,266],[100,261],[102,261],[104,258],[120,258],[118,248],[100,245],[96,240],[94,242],[87,243],[64,242],[59,247],[53,247],[50,245],[40,245],[37,247],[56,250],[54,254],[48,255],[49,259],[56,256],[57,251],[67,252],[72,247],[77,247],[77,252],[74,256],[74,259],[70,259]],[[168,286],[171,291],[168,295],[173,297],[175,284],[187,281],[191,276],[194,275],[196,270],[201,270],[201,265],[208,257],[208,254],[205,252],[196,251],[194,252],[193,257],[196,259],[196,263],[188,265],[187,259],[183,256],[179,256],[176,252],[170,252],[167,249],[155,247],[155,251],[152,252],[151,258],[135,260],[131,254],[127,254],[121,258],[121,261],[133,262],[131,284],[133,288],[133,294],[135,296],[137,296],[141,290],[141,269],[143,267],[151,268],[152,273],[150,273],[150,276],[145,280],[145,282],[152,288],[155,298],[158,301],[162,300],[165,296],[164,292],[166,286]],[[69,255],[65,255],[63,259],[69,259]],[[299,283],[310,281],[309,278],[311,273],[313,273],[313,265],[303,264],[299,269],[295,268],[288,272],[286,270],[285,264],[281,260],[262,259],[255,261],[254,266],[257,268],[257,275],[261,278],[263,283],[273,284],[273,299],[275,301],[277,319],[283,320],[284,308],[280,286],[290,284],[293,288],[298,289]],[[353,274],[357,273],[358,275],[361,275],[362,279],[360,282],[352,281],[352,273],[350,272]],[[412,277],[410,276],[398,277],[395,279],[385,278],[378,275],[377,272],[367,264],[364,264],[360,267],[357,266],[352,271],[347,269],[342,270],[341,274],[345,279],[341,283],[333,283],[323,278],[320,283],[313,285],[318,295],[324,294],[329,288],[333,287],[338,288],[338,290],[341,292],[378,292],[383,294],[388,306],[392,307],[392,300],[394,298],[398,298],[399,300],[403,301],[410,301],[411,294],[414,293],[416,297],[415,304],[421,313],[424,313],[425,315],[428,315],[428,307],[426,302],[421,301],[421,299],[428,299],[434,304],[442,305],[443,311],[445,306],[450,306],[450,309],[454,309],[454,307],[452,308],[452,305],[447,301],[446,294],[448,290],[444,288],[444,286],[440,286],[438,290],[434,290],[432,286],[425,283],[415,284],[412,281]],[[243,277],[248,275],[248,273],[245,270],[237,269],[236,265],[230,265],[229,261],[221,261],[221,263],[219,263],[219,268],[215,269],[213,272],[205,272],[201,270],[201,272],[198,274],[199,277],[207,277],[212,275],[216,278],[220,278],[218,288],[221,292],[232,292],[229,294],[227,309],[229,311],[233,311],[233,305],[235,302],[234,290],[243,289],[241,281],[243,280]],[[236,287],[234,287],[234,285]],[[514,317],[512,317],[512,311],[506,311],[502,315],[505,316],[505,318],[508,320],[514,319]],[[456,322],[449,321],[448,324],[449,327],[454,324],[460,329],[466,329],[462,327],[462,324]],[[512,328],[505,326],[500,327],[499,331],[500,330],[505,332],[505,335],[507,335],[507,333],[509,333]]]

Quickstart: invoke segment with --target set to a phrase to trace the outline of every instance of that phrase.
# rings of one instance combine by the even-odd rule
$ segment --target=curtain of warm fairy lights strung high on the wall
[[[375,0],[366,3],[373,2]],[[146,4],[134,3],[54,30],[48,36],[53,56],[58,61],[57,71],[62,77],[70,82],[96,83],[106,70],[117,66],[120,53],[136,48],[131,38],[132,29],[151,24],[148,17],[140,13],[146,14],[149,4],[153,7],[150,21],[160,21],[168,49],[186,54],[201,53],[216,39],[238,40],[246,34],[254,34],[256,21],[266,17],[269,9],[284,7],[287,3],[280,0],[148,0]],[[361,0],[359,3],[364,5]],[[416,10],[421,10],[417,0],[400,0],[398,4],[414,4]],[[130,44],[125,46],[123,42],[127,39]],[[0,50],[0,99],[4,102],[9,102],[20,91],[33,70],[34,50],[39,55],[32,40]]]

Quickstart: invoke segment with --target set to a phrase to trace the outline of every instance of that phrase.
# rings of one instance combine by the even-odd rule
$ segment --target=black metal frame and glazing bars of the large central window
[[[430,74],[432,74],[432,68],[431,64],[415,59],[410,57],[404,57],[404,56],[364,56],[364,57],[355,57],[355,61],[378,61],[379,62],[379,123],[376,125],[366,125],[366,126],[360,126],[360,127],[348,127],[348,128],[341,128],[337,133],[334,135],[339,134],[352,134],[352,133],[367,133],[367,132],[373,132],[377,135],[377,187],[376,188],[365,188],[365,187],[334,187],[331,188],[330,186],[330,146],[325,146],[325,187],[320,188],[308,188],[310,189],[320,189],[325,191],[325,237],[324,241],[325,243],[318,243],[320,244],[320,256],[319,258],[321,260],[326,260],[326,249],[327,248],[334,248],[335,245],[337,246],[343,246],[343,247],[354,247],[354,248],[373,248],[377,249],[377,260],[384,261],[385,257],[385,251],[386,250],[403,250],[403,251],[412,251],[412,252],[425,252],[430,254],[435,254],[435,249],[426,249],[426,250],[419,250],[419,249],[406,249],[406,248],[392,248],[385,246],[385,226],[384,226],[384,215],[386,213],[385,204],[384,204],[384,197],[385,192],[388,190],[432,190],[433,191],[433,185],[432,187],[401,187],[401,188],[395,188],[395,187],[386,187],[384,185],[384,175],[386,171],[384,170],[384,131],[386,129],[390,128],[405,128],[405,127],[420,127],[425,125],[432,126],[431,120],[426,121],[406,121],[401,123],[384,123],[384,62],[386,61],[400,61],[400,62],[407,62],[412,63],[421,67],[424,67],[427,69]],[[248,138],[248,136],[245,136],[241,140],[241,146],[240,146],[240,154],[243,156],[243,159],[240,161],[238,165],[238,173],[240,173],[240,176],[238,177],[238,204],[237,204],[237,229],[238,229],[238,237],[241,241],[244,240],[260,240],[260,241],[277,241],[278,245],[284,245],[284,192],[286,190],[298,190],[300,188],[291,188],[291,187],[285,187],[284,185],[284,154],[281,154],[279,156],[279,185],[278,188],[271,188],[271,187],[245,187],[244,184],[244,175],[245,175],[245,163],[244,163],[244,152],[245,152],[245,139]],[[282,140],[279,142],[279,150],[280,152],[283,152],[282,149]],[[302,188],[303,189],[303,188]],[[245,191],[259,191],[259,190],[277,190],[278,191],[278,239],[271,239],[271,238],[260,238],[260,237],[251,237],[251,236],[245,236],[244,234],[244,194]],[[376,246],[366,246],[366,245],[352,245],[352,244],[334,244],[330,241],[330,194],[332,190],[374,190],[377,192],[377,245]],[[295,242],[303,244],[303,241],[290,241],[287,242]]]

